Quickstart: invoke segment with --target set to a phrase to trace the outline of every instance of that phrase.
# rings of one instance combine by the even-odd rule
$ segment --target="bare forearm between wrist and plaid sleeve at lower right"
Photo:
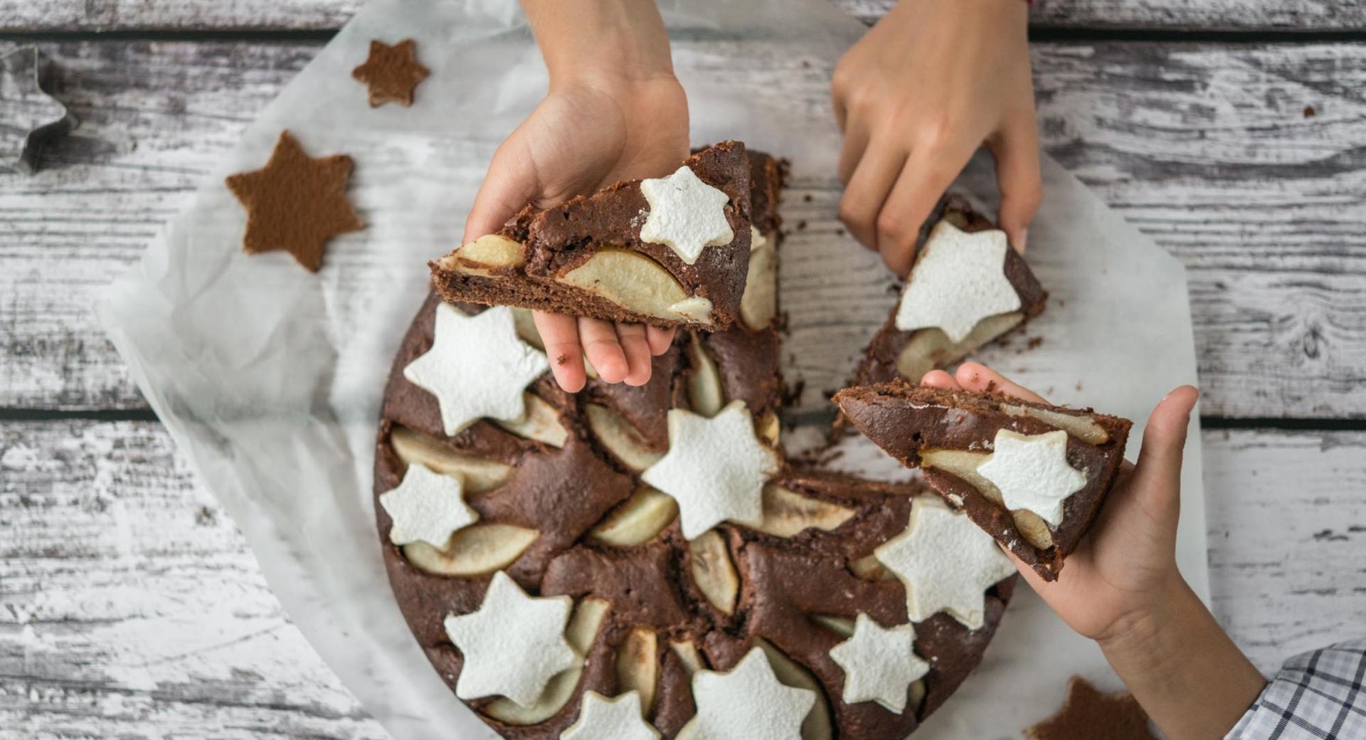
[[[1266,680],[1184,580],[1160,608],[1100,640],[1111,666],[1171,740],[1223,737]]]

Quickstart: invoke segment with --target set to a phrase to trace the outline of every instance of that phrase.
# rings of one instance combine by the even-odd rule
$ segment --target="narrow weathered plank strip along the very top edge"
[[[896,0],[832,0],[873,23]],[[0,29],[10,31],[109,30],[332,30],[362,0],[0,0]],[[1341,30],[1366,27],[1352,0],[1038,0],[1033,22],[1085,29]]]

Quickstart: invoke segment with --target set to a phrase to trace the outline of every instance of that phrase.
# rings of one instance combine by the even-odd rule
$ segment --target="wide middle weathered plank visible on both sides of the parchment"
[[[83,126],[38,176],[0,179],[0,405],[142,405],[93,295],[314,51],[45,46]],[[1205,414],[1366,415],[1366,44],[1041,44],[1034,59],[1048,149],[1190,268]],[[824,94],[805,79],[792,87]],[[806,194],[790,224],[835,232],[837,193]]]

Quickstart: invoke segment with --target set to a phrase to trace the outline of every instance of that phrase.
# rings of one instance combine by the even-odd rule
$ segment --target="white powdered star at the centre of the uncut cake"
[[[754,433],[744,401],[713,418],[669,410],[669,451],[641,479],[679,502],[683,537],[694,539],[721,522],[751,527],[764,520],[764,483],[779,457]]]

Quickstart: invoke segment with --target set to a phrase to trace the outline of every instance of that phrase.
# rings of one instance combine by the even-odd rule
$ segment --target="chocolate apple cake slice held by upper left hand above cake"
[[[727,141],[667,177],[527,206],[432,262],[432,283],[449,302],[725,329],[740,315],[750,239],[750,162]]]

